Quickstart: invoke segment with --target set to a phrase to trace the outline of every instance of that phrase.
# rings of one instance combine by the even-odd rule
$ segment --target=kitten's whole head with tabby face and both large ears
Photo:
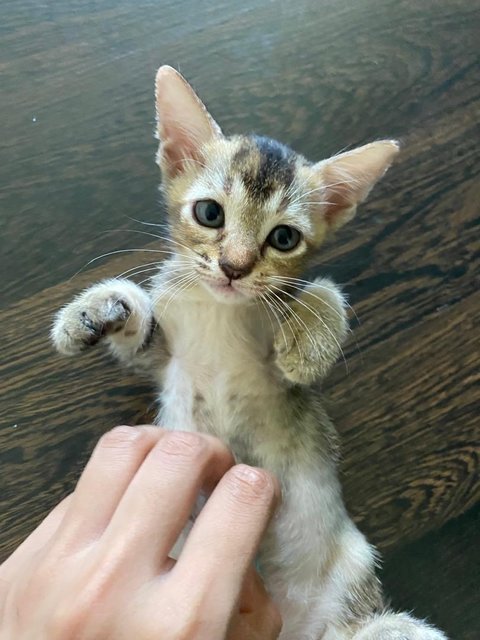
[[[275,299],[325,236],[350,219],[398,145],[383,141],[311,164],[259,136],[226,138],[173,69],[157,74],[163,190],[171,235],[217,299]]]

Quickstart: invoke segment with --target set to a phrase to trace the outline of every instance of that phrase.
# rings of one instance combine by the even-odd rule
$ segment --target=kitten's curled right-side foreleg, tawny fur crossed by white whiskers
[[[345,298],[337,285],[317,278],[298,296],[286,293],[290,313],[275,335],[276,363],[293,383],[324,378],[342,353],[348,331]]]

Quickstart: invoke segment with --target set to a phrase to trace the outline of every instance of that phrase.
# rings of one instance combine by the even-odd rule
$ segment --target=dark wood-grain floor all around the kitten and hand
[[[228,133],[311,159],[403,141],[322,254],[359,317],[331,411],[394,606],[478,638],[479,0],[3,0],[0,32],[0,559],[100,434],[151,406],[100,353],[57,356],[48,331],[79,288],[151,261],[83,268],[151,244],[132,218],[162,212],[153,77],[169,63]]]

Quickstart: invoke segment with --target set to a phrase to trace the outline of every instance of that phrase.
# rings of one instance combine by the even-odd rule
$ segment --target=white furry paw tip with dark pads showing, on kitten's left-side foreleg
[[[118,294],[80,296],[61,309],[52,328],[53,342],[66,355],[91,347],[111,333],[121,331],[130,317],[128,302]]]

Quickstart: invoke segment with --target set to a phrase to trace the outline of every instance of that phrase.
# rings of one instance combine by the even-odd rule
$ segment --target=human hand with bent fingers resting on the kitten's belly
[[[178,561],[201,490],[213,490]],[[251,564],[278,496],[216,439],[117,427],[73,494],[0,566],[2,640],[274,640]]]

